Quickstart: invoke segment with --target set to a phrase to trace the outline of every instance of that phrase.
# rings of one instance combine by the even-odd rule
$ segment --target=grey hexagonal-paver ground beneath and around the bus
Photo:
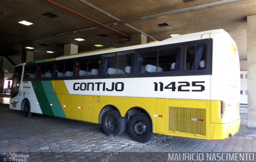
[[[241,114],[238,136],[225,140],[156,134],[152,141],[138,143],[128,134],[106,136],[98,124],[40,114],[25,118],[22,112],[0,105],[0,161],[4,152],[28,155],[26,161],[32,162],[163,162],[172,152],[254,152],[256,161],[256,130],[246,128],[246,117]]]

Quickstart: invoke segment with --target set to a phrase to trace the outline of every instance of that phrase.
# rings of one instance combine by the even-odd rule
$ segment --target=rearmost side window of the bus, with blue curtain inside
[[[203,70],[206,67],[206,46],[189,46],[186,48],[186,70]]]

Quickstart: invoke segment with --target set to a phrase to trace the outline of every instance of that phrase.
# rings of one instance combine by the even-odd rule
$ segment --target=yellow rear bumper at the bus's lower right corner
[[[228,138],[229,136],[234,136],[240,128],[240,119],[226,123],[211,123],[211,140],[220,140]]]

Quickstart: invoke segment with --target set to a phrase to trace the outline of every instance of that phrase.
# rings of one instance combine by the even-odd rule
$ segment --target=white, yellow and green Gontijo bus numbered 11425
[[[154,133],[224,139],[240,127],[240,64],[222,29],[16,66],[10,108],[101,124],[146,142]]]

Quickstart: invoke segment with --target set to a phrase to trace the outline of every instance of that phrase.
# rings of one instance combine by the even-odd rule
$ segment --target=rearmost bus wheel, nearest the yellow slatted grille
[[[153,138],[152,124],[146,114],[132,116],[128,123],[128,131],[133,140],[147,142]]]

